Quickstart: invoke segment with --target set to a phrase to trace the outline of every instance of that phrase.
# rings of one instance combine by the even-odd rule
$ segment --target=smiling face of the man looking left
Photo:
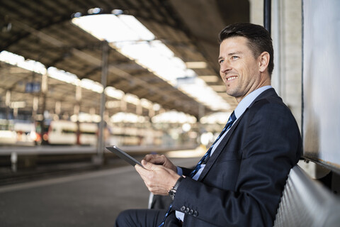
[[[268,85],[261,75],[259,58],[254,57],[242,36],[227,38],[220,45],[220,76],[227,94],[238,102],[255,89]]]

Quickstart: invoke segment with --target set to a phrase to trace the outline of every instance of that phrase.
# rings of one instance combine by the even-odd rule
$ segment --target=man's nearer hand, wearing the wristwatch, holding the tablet
[[[167,195],[180,177],[174,170],[164,167],[164,165],[154,165],[145,160],[142,160],[142,165],[145,169],[138,165],[135,165],[135,169],[144,180],[147,189],[153,194]]]

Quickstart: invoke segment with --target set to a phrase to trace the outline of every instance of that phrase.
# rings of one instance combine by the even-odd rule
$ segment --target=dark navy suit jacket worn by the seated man
[[[274,89],[261,93],[216,148],[198,181],[183,179],[173,209],[183,226],[273,226],[300,131]],[[191,170],[183,168],[183,175]]]

